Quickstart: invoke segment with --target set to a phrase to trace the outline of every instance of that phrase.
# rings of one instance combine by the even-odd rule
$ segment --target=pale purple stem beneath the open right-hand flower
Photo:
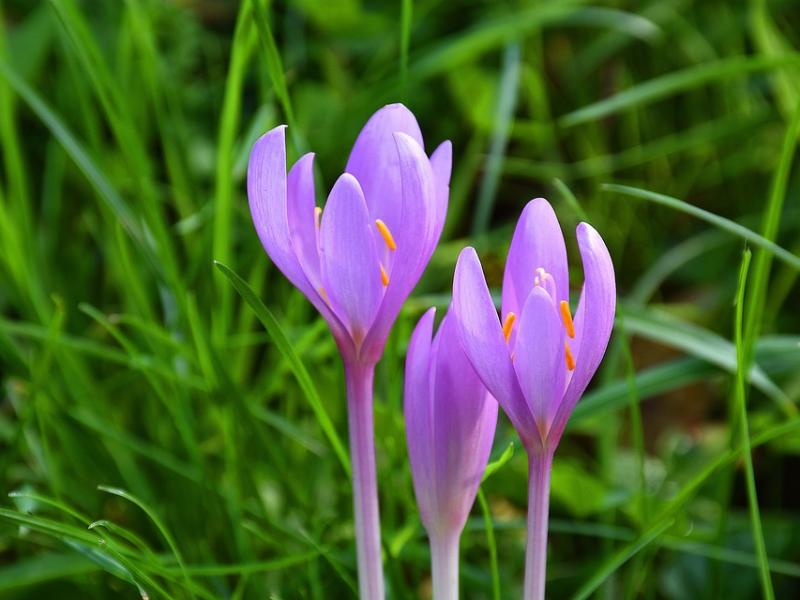
[[[543,600],[547,571],[547,519],[550,507],[550,452],[528,454],[528,544],[525,549],[525,600]]]

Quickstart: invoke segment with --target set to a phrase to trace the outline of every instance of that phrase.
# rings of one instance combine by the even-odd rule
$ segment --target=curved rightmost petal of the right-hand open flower
[[[587,223],[580,223],[576,233],[583,261],[583,293],[575,313],[575,370],[553,423],[556,441],[600,366],[614,327],[617,304],[614,265],[603,238]]]

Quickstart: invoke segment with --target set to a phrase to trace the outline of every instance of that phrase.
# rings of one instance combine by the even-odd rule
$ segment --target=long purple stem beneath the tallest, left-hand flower
[[[358,589],[362,600],[383,600],[381,525],[372,425],[374,371],[374,365],[345,365],[350,459],[353,465]]]

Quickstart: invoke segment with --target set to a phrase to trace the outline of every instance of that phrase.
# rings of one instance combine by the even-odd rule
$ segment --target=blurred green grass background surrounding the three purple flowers
[[[428,151],[452,139],[454,172],[442,243],[376,375],[391,598],[430,595],[401,410],[410,330],[447,305],[466,244],[499,287],[536,196],[573,282],[585,219],[620,292],[556,455],[548,595],[800,595],[796,2],[0,11],[0,597],[355,596],[340,360],[263,253],[244,176],[255,138],[288,123],[323,198],[396,101]],[[521,593],[526,462],[505,418],[493,457],[464,598]]]

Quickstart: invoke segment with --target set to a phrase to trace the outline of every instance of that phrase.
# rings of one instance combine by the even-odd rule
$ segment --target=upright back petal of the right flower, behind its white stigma
[[[539,267],[555,279],[556,304],[561,300],[569,300],[564,236],[553,208],[544,198],[528,202],[511,238],[503,274],[503,319],[509,312],[520,314]]]

